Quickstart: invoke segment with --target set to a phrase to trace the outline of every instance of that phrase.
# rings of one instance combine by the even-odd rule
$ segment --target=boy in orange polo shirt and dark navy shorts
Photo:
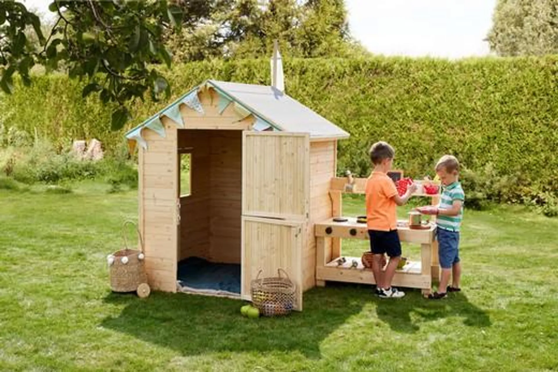
[[[376,280],[376,294],[380,298],[401,298],[404,292],[391,286],[397,264],[401,260],[401,242],[397,234],[397,205],[405,205],[416,190],[413,183],[403,196],[399,196],[395,183],[387,176],[391,170],[395,150],[386,142],[376,142],[370,148],[374,170],[366,181],[366,217],[370,250],[373,254],[372,272]],[[386,270],[382,271],[382,257],[389,256]]]

